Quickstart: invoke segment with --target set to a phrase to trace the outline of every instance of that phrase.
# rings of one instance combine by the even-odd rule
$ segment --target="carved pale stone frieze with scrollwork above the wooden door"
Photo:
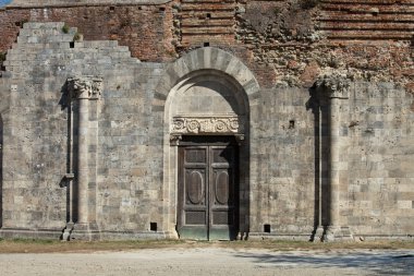
[[[238,116],[176,116],[171,127],[171,133],[181,134],[238,134],[243,131],[243,123]]]

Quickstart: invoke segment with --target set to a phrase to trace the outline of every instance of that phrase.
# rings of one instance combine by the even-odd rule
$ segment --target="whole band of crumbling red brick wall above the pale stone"
[[[210,45],[241,58],[264,87],[310,86],[341,71],[353,80],[412,82],[414,0],[175,0],[160,4],[9,7],[0,51],[25,21],[64,21],[85,40],[114,39],[143,61],[172,61]]]

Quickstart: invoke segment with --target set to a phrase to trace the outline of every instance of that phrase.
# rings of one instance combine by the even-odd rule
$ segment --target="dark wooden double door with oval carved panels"
[[[239,231],[239,147],[232,136],[184,136],[179,146],[180,238],[233,240]]]

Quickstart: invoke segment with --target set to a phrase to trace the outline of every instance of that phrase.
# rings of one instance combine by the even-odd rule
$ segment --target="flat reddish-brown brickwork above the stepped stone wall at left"
[[[77,27],[85,40],[118,40],[143,61],[175,58],[171,4],[7,9],[0,11],[0,51],[11,47],[23,23],[28,21],[63,21]]]

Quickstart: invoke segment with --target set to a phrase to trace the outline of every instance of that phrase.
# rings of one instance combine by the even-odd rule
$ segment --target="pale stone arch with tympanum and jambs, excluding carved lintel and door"
[[[194,88],[196,87],[196,88]],[[204,97],[217,98],[224,113],[211,106],[194,108],[191,97],[200,93]],[[190,99],[188,99],[190,98]],[[187,100],[190,108],[178,110],[176,103]],[[238,120],[239,129],[228,130],[224,135],[235,135],[240,146],[240,231],[248,231],[249,209],[249,111],[259,99],[259,85],[253,73],[236,57],[223,50],[206,47],[194,50],[170,64],[155,91],[153,101],[154,127],[163,137],[163,224],[170,237],[176,237],[176,182],[178,152],[172,134],[172,120],[180,112],[187,116],[230,117]],[[214,100],[214,99],[212,99]],[[202,103],[203,100],[200,100]],[[209,100],[207,100],[209,101]],[[185,106],[185,105],[184,105]],[[193,108],[191,108],[193,106]],[[227,117],[228,116],[228,117]],[[161,133],[162,130],[162,133]],[[207,131],[208,132],[208,131]],[[211,133],[204,133],[211,134]]]

